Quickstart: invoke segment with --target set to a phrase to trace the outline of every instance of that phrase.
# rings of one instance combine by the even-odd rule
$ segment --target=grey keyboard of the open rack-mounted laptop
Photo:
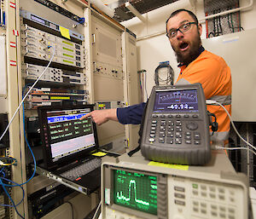
[[[100,167],[102,164],[102,160],[99,158],[93,158],[84,164],[79,165],[78,167],[73,168],[72,170],[68,170],[67,172],[62,173],[60,176],[63,176],[71,181],[76,180],[79,176],[84,176],[90,171],[95,170]]]

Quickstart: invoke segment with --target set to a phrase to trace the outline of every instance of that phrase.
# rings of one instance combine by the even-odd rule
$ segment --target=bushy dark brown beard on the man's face
[[[201,37],[199,34],[198,37],[195,38],[195,41],[190,45],[192,46],[189,49],[189,53],[186,54],[183,54],[183,52],[180,51],[176,51],[176,49],[174,49],[172,46],[178,63],[188,66],[191,61],[195,61],[195,59],[198,57],[199,48],[201,47]]]

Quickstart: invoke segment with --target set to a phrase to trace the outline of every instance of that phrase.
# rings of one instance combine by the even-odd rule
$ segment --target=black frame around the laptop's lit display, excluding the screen
[[[46,142],[44,141],[44,125],[48,124],[47,122],[47,112],[50,111],[61,111],[61,110],[74,110],[74,109],[90,109],[90,112],[94,110],[94,105],[75,105],[75,106],[44,106],[38,107],[38,121],[40,128],[40,135],[43,147],[44,154],[44,168],[47,170],[57,170],[66,164],[71,164],[81,158],[84,158],[86,155],[89,155],[92,151],[95,151],[99,148],[98,137],[96,133],[96,124],[92,121],[95,146],[90,147],[84,151],[79,151],[78,153],[73,153],[68,157],[59,158],[56,161],[53,161],[50,147],[46,147]],[[49,139],[49,130],[47,130],[47,136]]]

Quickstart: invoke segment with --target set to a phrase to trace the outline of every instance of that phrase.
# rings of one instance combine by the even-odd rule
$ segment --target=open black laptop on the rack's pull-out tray
[[[92,155],[99,148],[96,124],[91,118],[79,119],[92,110],[93,105],[38,107],[44,170],[86,193],[101,181],[101,158]]]

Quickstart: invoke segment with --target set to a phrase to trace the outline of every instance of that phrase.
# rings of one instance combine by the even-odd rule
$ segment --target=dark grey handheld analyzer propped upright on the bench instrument
[[[148,99],[142,154],[170,164],[207,164],[209,118],[201,84],[155,86]]]

